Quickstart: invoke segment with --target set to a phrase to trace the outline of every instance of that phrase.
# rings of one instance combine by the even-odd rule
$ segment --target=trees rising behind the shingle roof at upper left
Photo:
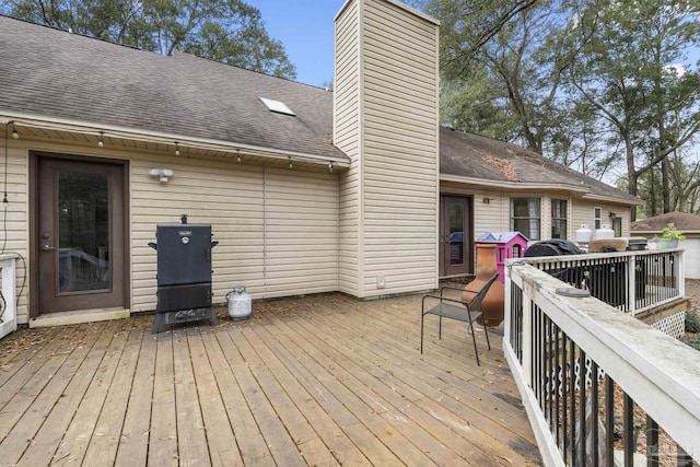
[[[176,50],[295,78],[260,11],[243,0],[8,0],[4,14],[172,55]]]

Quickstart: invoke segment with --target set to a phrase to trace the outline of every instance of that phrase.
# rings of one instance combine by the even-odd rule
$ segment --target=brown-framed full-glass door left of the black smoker
[[[39,157],[39,313],[124,305],[124,166]]]

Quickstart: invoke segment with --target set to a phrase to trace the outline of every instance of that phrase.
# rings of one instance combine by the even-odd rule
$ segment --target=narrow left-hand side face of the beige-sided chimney
[[[351,160],[339,183],[338,289],[359,295],[361,164],[360,164],[360,5],[350,2],[336,21],[334,142]]]

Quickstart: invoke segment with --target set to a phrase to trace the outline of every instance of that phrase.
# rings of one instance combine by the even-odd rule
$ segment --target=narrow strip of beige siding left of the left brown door
[[[7,127],[4,127],[7,128]],[[0,133],[2,135],[2,133]],[[3,138],[4,136],[2,136]],[[0,223],[0,248],[2,253],[15,254],[16,259],[16,293],[21,293],[18,300],[18,322],[27,323],[28,307],[27,297],[30,284],[27,281],[27,270],[25,261],[28,261],[28,166],[25,141],[8,140],[8,170],[7,170],[7,192],[8,203],[3,206],[3,220]],[[4,189],[4,161],[2,184]],[[4,196],[4,191],[1,194]],[[22,260],[20,258],[24,258]],[[22,287],[24,284],[24,288]]]

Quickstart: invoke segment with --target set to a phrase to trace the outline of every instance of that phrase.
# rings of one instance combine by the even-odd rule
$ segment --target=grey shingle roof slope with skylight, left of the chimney
[[[269,112],[259,97],[296,117]],[[332,93],[176,54],[164,57],[0,16],[0,108],[345,157]]]

